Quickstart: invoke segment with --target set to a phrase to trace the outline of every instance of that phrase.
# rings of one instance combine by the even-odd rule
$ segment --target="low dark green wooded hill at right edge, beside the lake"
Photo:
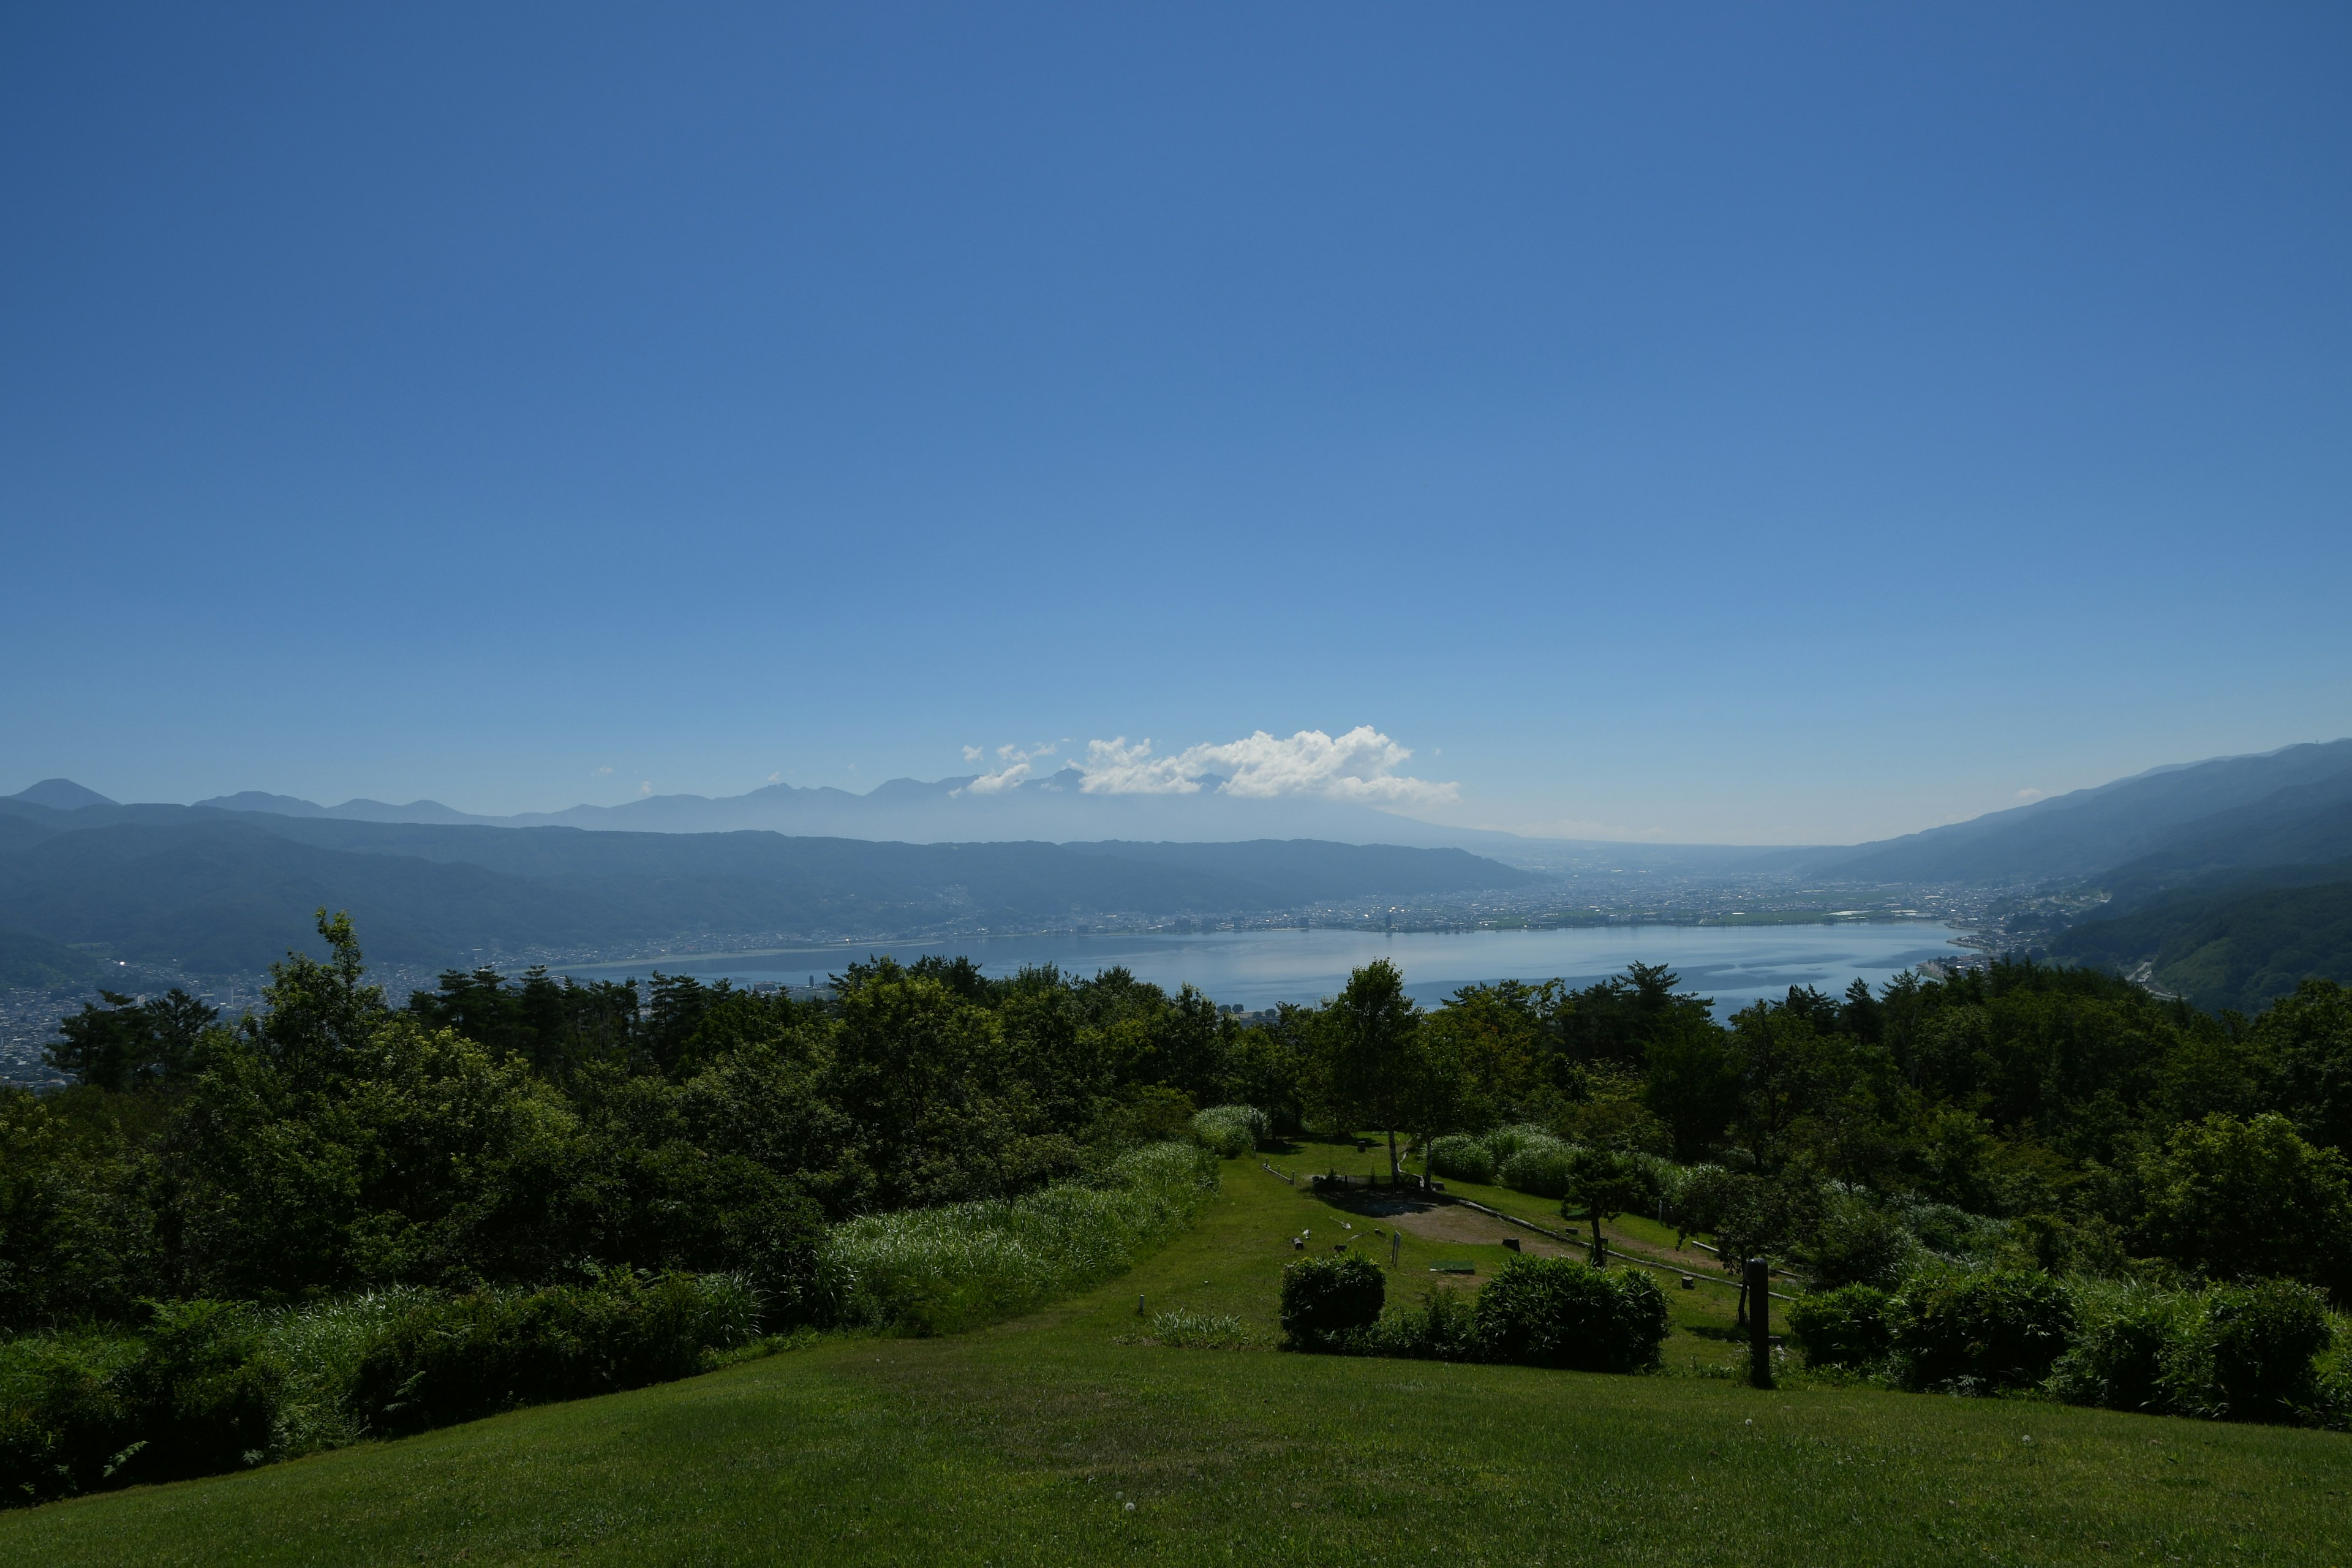
[[[2336,877],[2352,865],[2333,867]],[[2352,983],[2352,879],[2317,886],[2183,889],[2060,933],[2051,952],[2100,969],[2152,961],[2161,990],[2244,1013],[2305,976]]]

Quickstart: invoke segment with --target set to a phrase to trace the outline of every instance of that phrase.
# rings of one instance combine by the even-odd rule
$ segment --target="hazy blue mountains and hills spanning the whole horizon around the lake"
[[[1529,867],[1762,872],[1828,886],[2096,889],[2107,893],[2098,919],[2053,950],[2152,964],[2159,985],[2209,1006],[2253,1006],[2305,973],[2352,980],[2352,936],[2331,936],[2345,922],[2328,914],[2328,898],[2352,898],[2352,741],[2152,769],[1832,849],[1522,839],[1214,788],[1089,795],[1075,769],[997,792],[974,783],[894,778],[866,795],[769,785],[487,818],[437,802],[320,806],[263,792],[118,806],[47,778],[0,799],[0,926],[252,969],[292,940],[287,910],[318,903],[367,905],[386,957],[442,961],[423,954],[1284,910],[1517,886]]]

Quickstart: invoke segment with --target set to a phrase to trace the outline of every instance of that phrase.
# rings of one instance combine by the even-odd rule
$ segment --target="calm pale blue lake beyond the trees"
[[[1390,959],[1406,990],[1423,1004],[1482,980],[1550,980],[1588,985],[1635,959],[1672,964],[1684,987],[1715,997],[1717,1018],[1757,997],[1780,997],[1790,985],[1842,992],[1853,978],[1879,985],[1900,969],[1947,959],[1959,950],[1952,926],[1929,922],[1828,926],[1599,926],[1583,931],[1211,931],[1204,936],[988,936],[941,943],[849,943],[720,952],[628,964],[583,964],[562,973],[581,980],[626,980],[663,973],[736,985],[823,983],[851,959],[887,952],[910,964],[929,952],[964,954],[990,976],[1023,964],[1058,964],[1091,976],[1124,964],[1138,980],[1167,990],[1192,983],[1209,997],[1244,1009],[1277,1001],[1312,1004],[1348,983],[1348,971]]]

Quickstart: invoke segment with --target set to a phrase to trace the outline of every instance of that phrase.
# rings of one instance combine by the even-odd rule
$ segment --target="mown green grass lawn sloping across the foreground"
[[[0,1514],[0,1563],[2352,1563],[2321,1432],[1148,1345],[1138,1293],[1270,1345],[1289,1239],[1355,1234],[1223,1171],[1197,1229],[993,1331]],[[1463,1255],[1501,1248],[1406,1239],[1392,1298]],[[1677,1342],[1722,1359],[1693,1295]]]

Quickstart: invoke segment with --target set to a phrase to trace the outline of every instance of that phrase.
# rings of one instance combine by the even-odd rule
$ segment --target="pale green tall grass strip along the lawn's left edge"
[[[863,1215],[818,1253],[837,1324],[955,1333],[1124,1272],[1216,1192],[1216,1157],[1150,1143],[1096,1180],[1018,1199]]]

